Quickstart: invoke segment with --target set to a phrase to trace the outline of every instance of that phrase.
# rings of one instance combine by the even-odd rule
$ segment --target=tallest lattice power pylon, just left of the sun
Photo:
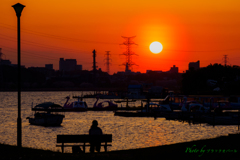
[[[133,63],[133,61],[132,61],[132,56],[133,56],[133,55],[137,55],[137,54],[135,54],[134,52],[131,51],[131,45],[133,45],[133,44],[134,44],[134,45],[137,45],[137,44],[135,44],[135,43],[132,41],[132,39],[135,38],[135,37],[136,37],[136,36],[133,36],[133,37],[123,37],[123,36],[122,36],[122,38],[126,39],[126,41],[123,42],[123,44],[121,44],[121,45],[126,45],[126,47],[127,47],[126,52],[124,52],[124,53],[122,54],[122,55],[125,55],[125,56],[126,56],[126,62],[122,64],[122,65],[125,65],[125,66],[126,66],[125,71],[131,70],[131,69],[132,69],[132,66],[133,66],[133,65],[136,65],[136,64]]]

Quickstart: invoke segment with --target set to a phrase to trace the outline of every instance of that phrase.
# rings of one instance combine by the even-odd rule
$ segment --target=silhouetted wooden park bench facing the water
[[[105,152],[107,152],[107,146],[112,146],[111,144],[109,144],[110,142],[112,142],[112,135],[111,134],[57,135],[58,144],[56,145],[56,147],[61,147],[62,153],[63,153],[64,147],[82,146],[83,152],[85,153],[85,147],[90,146],[90,142],[101,142],[101,146],[104,146]],[[69,143],[75,143],[75,144],[69,144]],[[76,144],[76,143],[83,143],[83,144]]]

